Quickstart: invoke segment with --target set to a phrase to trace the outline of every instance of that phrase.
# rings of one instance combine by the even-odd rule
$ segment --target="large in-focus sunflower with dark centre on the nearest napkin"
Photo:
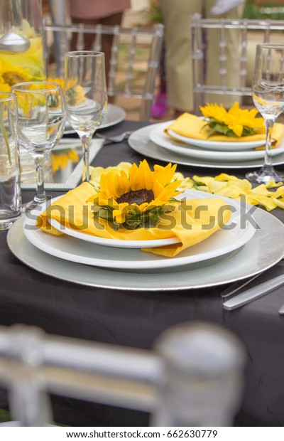
[[[101,218],[117,230],[156,226],[165,213],[174,211],[176,191],[181,181],[173,181],[176,164],[155,165],[148,162],[132,164],[129,174],[124,170],[102,174],[98,193],[89,198],[94,204],[94,218]],[[175,201],[176,202],[176,201]]]

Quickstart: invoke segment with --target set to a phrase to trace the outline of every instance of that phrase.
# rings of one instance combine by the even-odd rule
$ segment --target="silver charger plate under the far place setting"
[[[173,151],[164,149],[158,144],[155,144],[155,142],[152,142],[149,138],[153,128],[159,124],[160,123],[151,124],[133,132],[128,139],[131,149],[143,156],[148,156],[149,158],[187,166],[206,167],[212,169],[254,169],[263,166],[263,158],[251,159],[247,161],[244,159],[239,161],[219,161],[219,159],[210,160],[205,158],[194,158],[191,156],[185,156],[184,154],[179,154],[175,151],[175,149],[173,149]],[[284,152],[273,157],[273,165],[280,164],[284,164]]]

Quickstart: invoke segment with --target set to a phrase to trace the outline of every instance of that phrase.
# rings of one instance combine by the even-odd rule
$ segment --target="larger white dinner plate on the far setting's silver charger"
[[[217,150],[200,149],[194,145],[175,141],[175,139],[165,134],[164,129],[168,127],[168,122],[162,122],[154,127],[149,133],[149,138],[160,147],[173,153],[182,154],[189,158],[207,159],[209,161],[250,161],[252,159],[263,159],[263,150],[246,150],[241,152],[217,152]],[[277,148],[271,150],[271,155],[275,156],[284,152],[284,139]]]

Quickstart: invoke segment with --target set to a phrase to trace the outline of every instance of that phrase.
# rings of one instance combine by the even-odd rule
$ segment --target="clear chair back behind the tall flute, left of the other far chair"
[[[153,28],[122,28],[101,24],[94,26],[45,24],[45,63],[48,76],[64,76],[64,54],[70,51],[70,41],[74,33],[77,34],[77,51],[84,50],[84,33],[94,34],[94,51],[102,51],[103,35],[113,36],[108,73],[108,95],[128,98],[131,105],[137,102],[141,121],[148,121],[163,44],[163,24],[157,24]],[[57,42],[55,60],[59,61],[56,66],[50,63],[50,51],[48,51],[48,46],[52,41]],[[116,102],[119,104],[119,100]]]

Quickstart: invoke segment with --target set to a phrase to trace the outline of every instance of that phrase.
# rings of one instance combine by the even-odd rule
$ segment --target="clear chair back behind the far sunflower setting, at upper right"
[[[251,81],[256,44],[284,43],[284,21],[211,19],[201,18],[200,14],[194,14],[191,17],[190,27],[195,114],[200,115],[200,106],[207,102],[214,102],[214,100],[222,102],[224,95],[236,97],[241,105],[253,106]],[[234,46],[233,58],[236,64],[233,73],[229,65],[232,32],[235,34],[234,38],[237,43]],[[218,75],[212,75],[212,64],[211,68],[208,68],[209,42],[212,42],[212,37],[217,40],[214,70]],[[214,76],[214,82],[212,82],[212,76]]]

